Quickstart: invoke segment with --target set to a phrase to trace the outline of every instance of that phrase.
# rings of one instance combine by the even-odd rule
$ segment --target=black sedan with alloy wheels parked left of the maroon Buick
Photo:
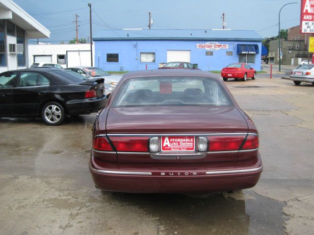
[[[104,78],[84,81],[58,69],[0,73],[0,117],[41,117],[48,125],[105,106]]]

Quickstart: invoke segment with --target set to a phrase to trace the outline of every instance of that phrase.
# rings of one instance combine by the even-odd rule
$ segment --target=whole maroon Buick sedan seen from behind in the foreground
[[[259,134],[208,72],[129,72],[95,121],[89,169],[106,191],[251,188],[262,173]]]

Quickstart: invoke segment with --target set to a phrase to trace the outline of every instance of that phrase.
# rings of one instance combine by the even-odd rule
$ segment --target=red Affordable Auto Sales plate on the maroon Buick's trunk
[[[161,151],[194,151],[194,136],[162,136]]]

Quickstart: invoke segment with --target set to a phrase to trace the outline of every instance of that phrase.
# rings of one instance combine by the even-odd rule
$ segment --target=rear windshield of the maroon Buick
[[[126,80],[112,107],[231,104],[229,95],[215,79],[171,76]]]

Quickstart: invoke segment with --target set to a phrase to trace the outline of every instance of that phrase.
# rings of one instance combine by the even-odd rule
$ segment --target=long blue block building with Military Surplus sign
[[[105,71],[152,70],[175,61],[204,71],[220,71],[231,63],[261,71],[262,38],[253,30],[99,30],[93,40],[94,65]]]

